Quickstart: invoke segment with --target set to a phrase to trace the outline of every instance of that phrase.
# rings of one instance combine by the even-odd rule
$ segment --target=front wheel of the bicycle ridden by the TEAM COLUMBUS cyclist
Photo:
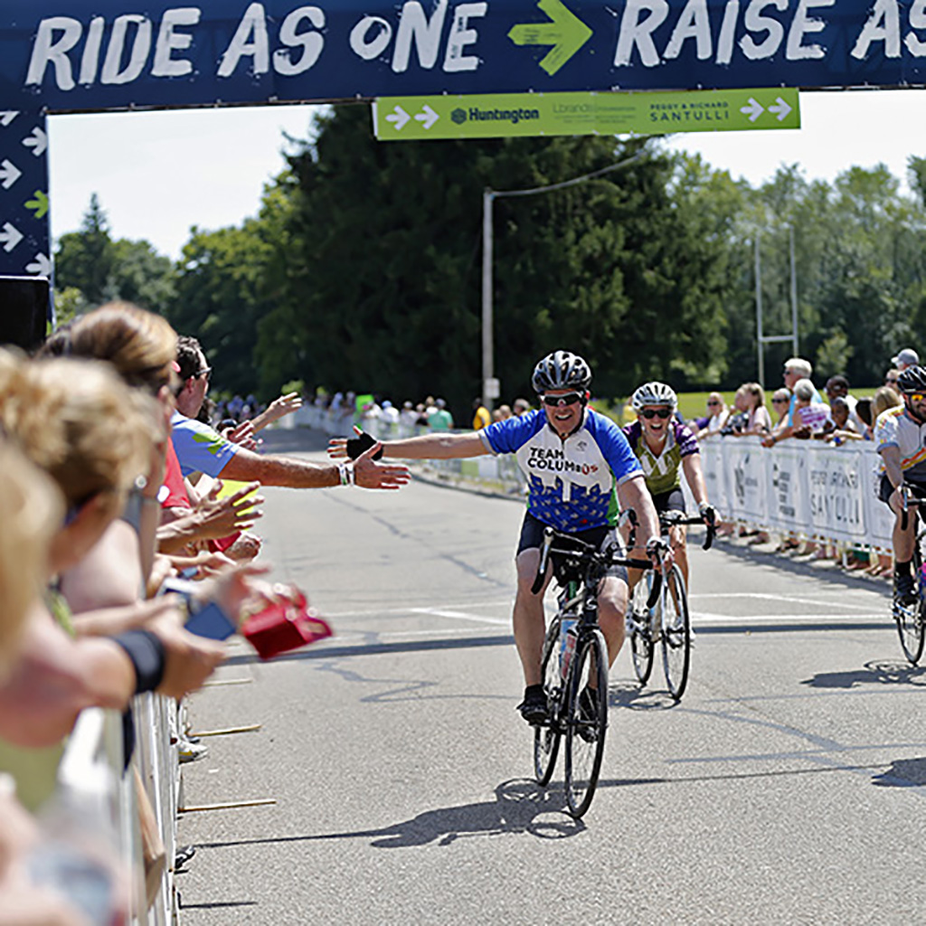
[[[607,733],[607,647],[601,631],[580,641],[569,668],[566,708],[566,801],[573,817],[592,804]]]

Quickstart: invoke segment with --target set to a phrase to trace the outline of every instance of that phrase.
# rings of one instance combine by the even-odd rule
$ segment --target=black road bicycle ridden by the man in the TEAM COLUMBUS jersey
[[[598,585],[611,565],[653,569],[648,559],[628,559],[620,553],[618,544],[598,550],[547,528],[532,587],[533,594],[543,589],[548,564],[556,556],[554,572],[562,590],[544,639],[541,677],[547,719],[534,726],[533,769],[537,782],[549,782],[559,742],[565,737],[566,801],[575,818],[582,817],[592,804],[607,733],[608,660],[598,626]],[[658,588],[656,582],[654,594]]]

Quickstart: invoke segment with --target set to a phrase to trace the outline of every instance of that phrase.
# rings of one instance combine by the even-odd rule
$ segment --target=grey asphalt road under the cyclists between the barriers
[[[294,440],[281,435],[278,441]],[[302,438],[305,440],[305,438]],[[292,444],[299,446],[304,444]],[[518,503],[267,490],[274,575],[337,636],[192,699],[184,926],[909,923],[926,913],[926,677],[887,586],[695,550],[679,705],[612,669],[594,805],[532,782],[508,616]]]

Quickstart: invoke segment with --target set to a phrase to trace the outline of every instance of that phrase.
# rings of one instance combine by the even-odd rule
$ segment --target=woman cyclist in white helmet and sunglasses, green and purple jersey
[[[682,472],[706,523],[719,524],[717,511],[707,501],[707,486],[701,469],[701,455],[694,433],[677,417],[679,399],[665,382],[646,382],[631,396],[637,419],[624,427],[624,435],[640,460],[646,488],[659,514],[685,510]],[[688,586],[688,552],[684,525],[669,531],[675,561]],[[632,583],[636,577],[631,576]]]

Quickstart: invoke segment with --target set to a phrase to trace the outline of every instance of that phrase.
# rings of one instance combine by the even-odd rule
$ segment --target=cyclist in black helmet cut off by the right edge
[[[903,527],[904,482],[913,483],[915,493],[926,495],[926,369],[908,367],[898,377],[897,386],[904,404],[889,408],[878,416],[874,439],[882,458],[882,478],[878,497],[895,514],[894,596],[909,607],[916,603],[916,578],[910,569],[916,544],[918,519],[911,512]]]

